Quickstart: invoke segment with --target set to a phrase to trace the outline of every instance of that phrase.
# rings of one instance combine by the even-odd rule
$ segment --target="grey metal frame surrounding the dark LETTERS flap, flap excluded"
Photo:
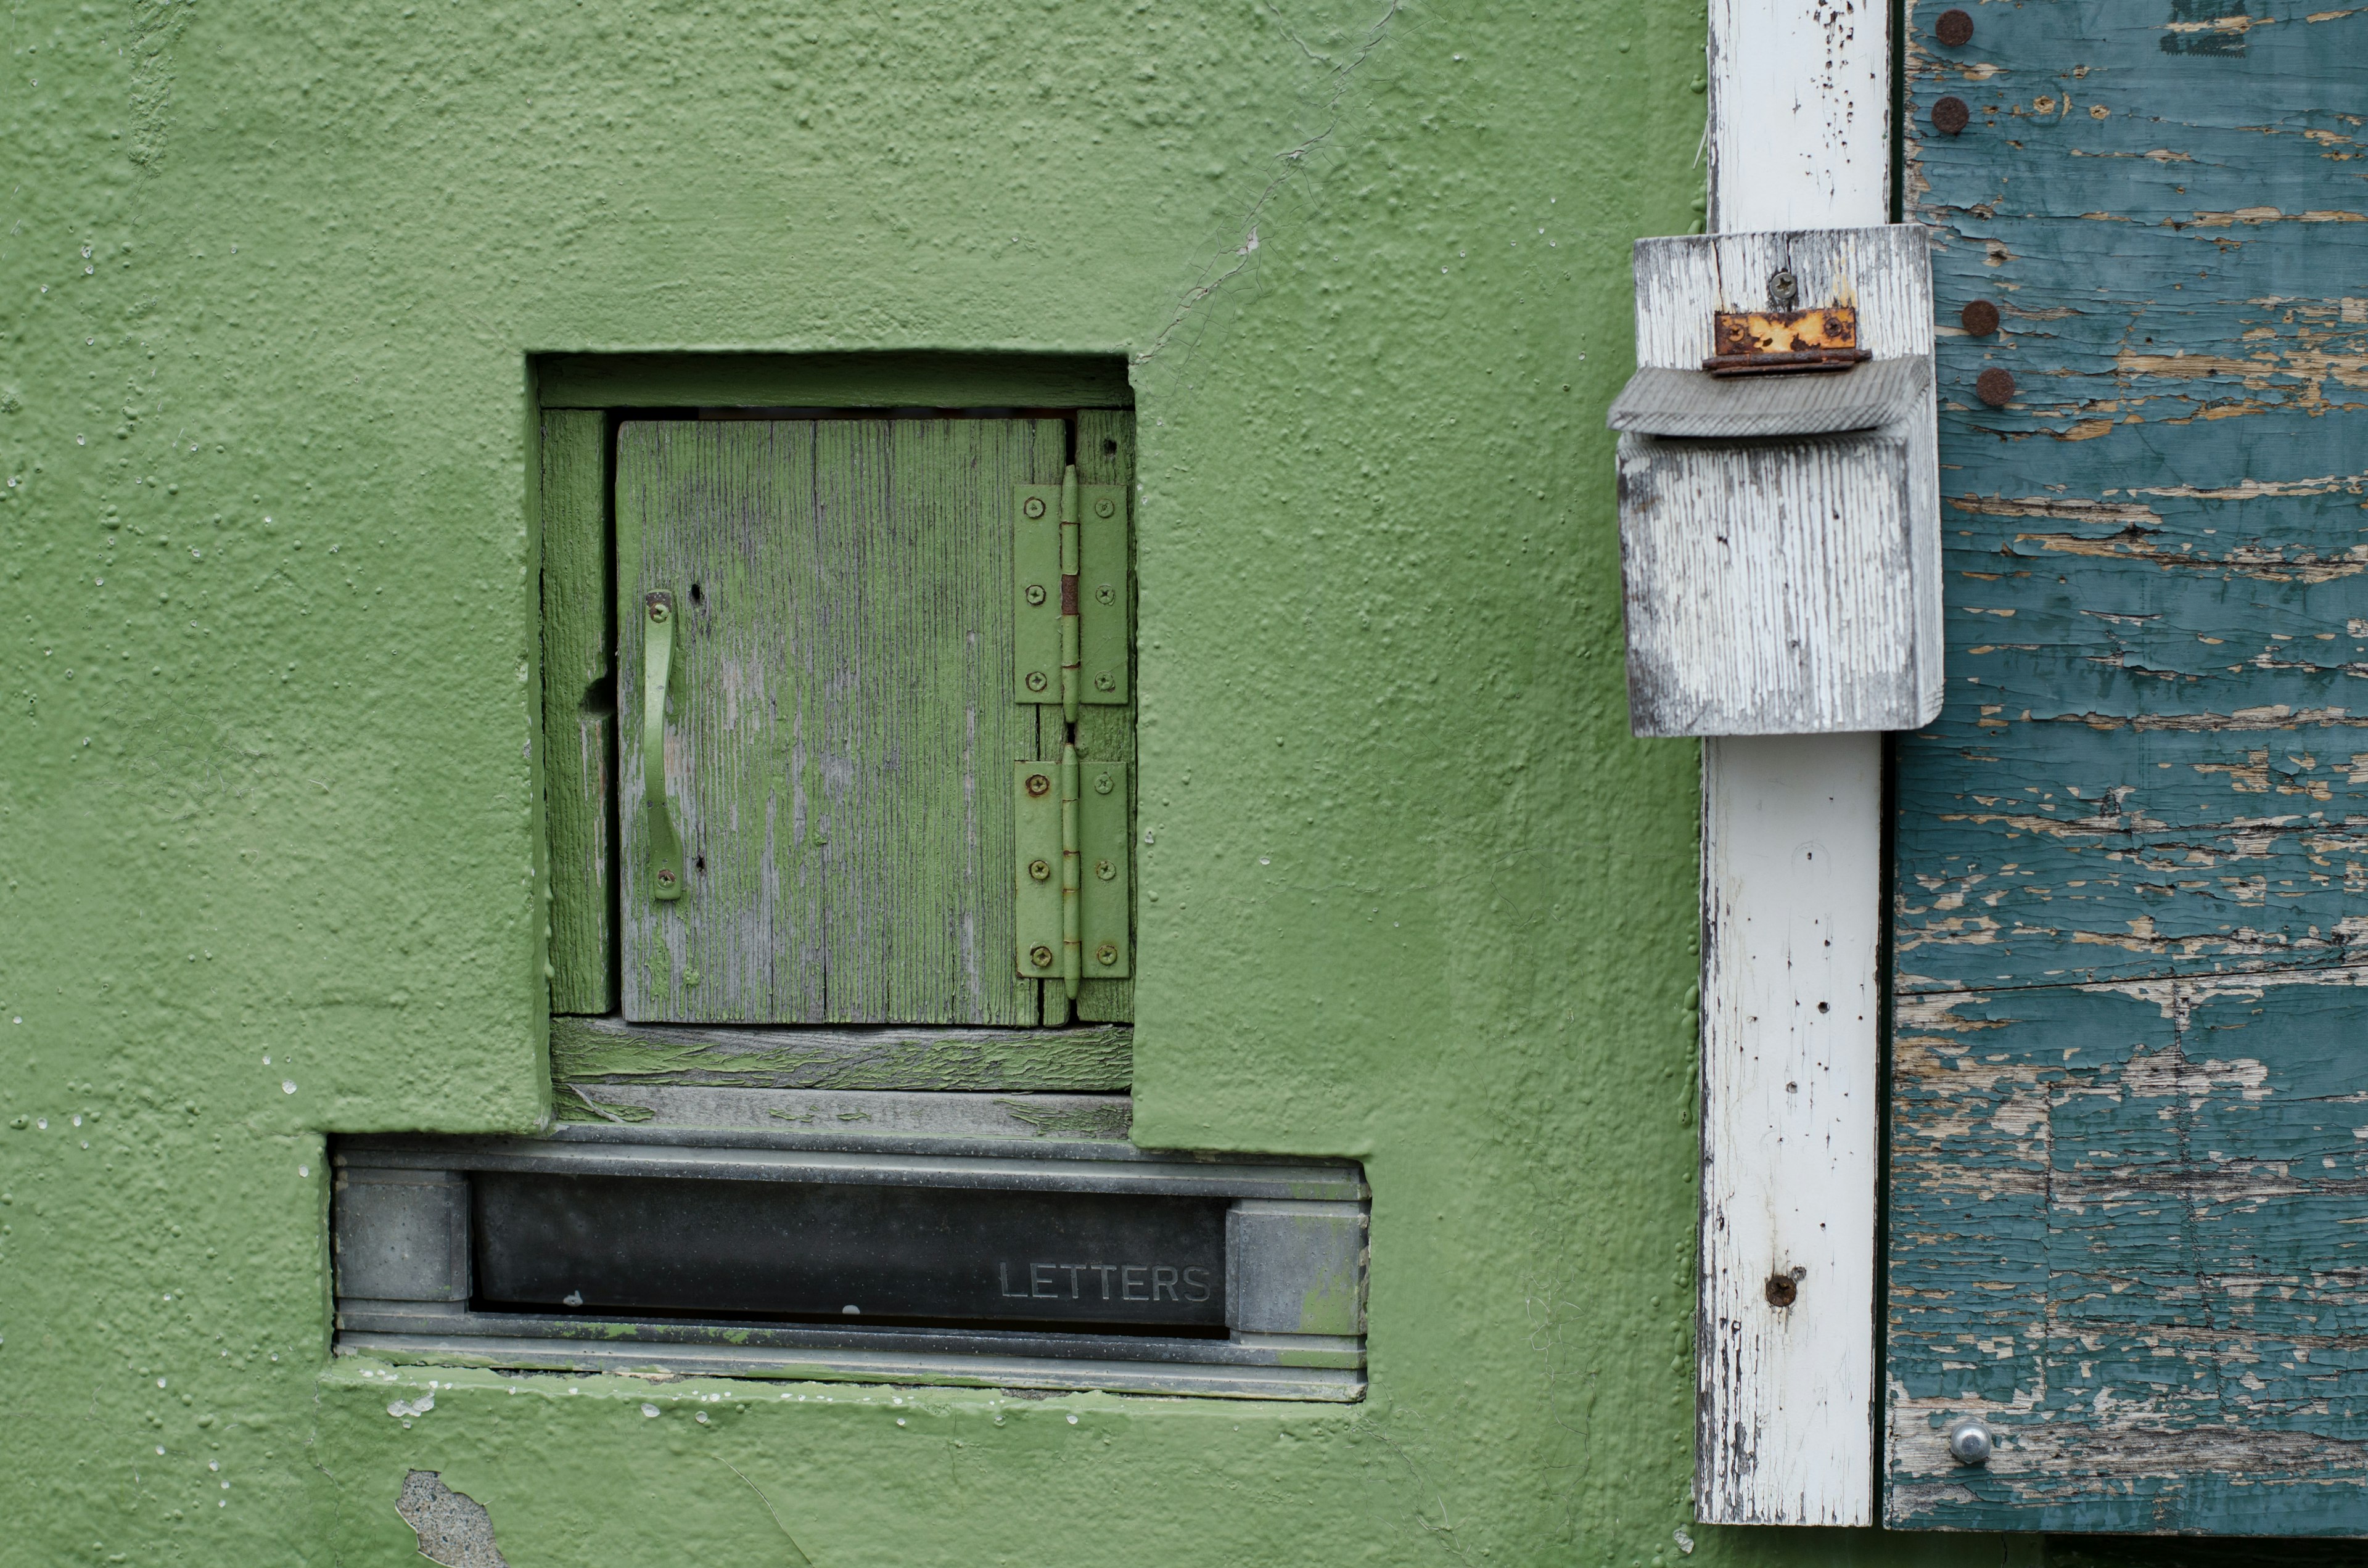
[[[332,1246],[336,1352],[393,1362],[867,1383],[1096,1388],[1250,1400],[1364,1397],[1369,1189],[1347,1163],[1163,1156],[1132,1146],[897,1139],[893,1151],[632,1142],[628,1130],[346,1137]],[[474,1172],[1224,1201],[1224,1338],[997,1326],[485,1312],[471,1307]]]

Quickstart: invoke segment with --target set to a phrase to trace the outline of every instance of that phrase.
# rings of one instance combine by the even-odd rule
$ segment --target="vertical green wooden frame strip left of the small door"
[[[616,1007],[609,422],[542,415],[542,812],[554,1014]]]

